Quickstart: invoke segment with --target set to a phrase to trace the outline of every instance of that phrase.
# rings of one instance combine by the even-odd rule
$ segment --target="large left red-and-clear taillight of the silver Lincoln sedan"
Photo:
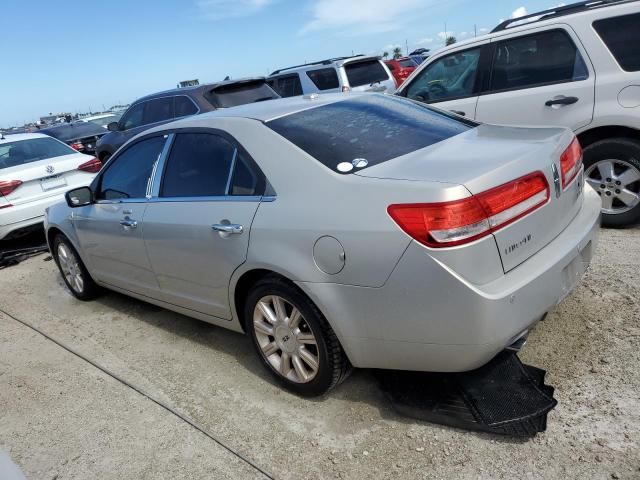
[[[391,205],[389,215],[407,234],[434,248],[472,242],[537,210],[549,183],[535,172],[486,192],[444,203]]]

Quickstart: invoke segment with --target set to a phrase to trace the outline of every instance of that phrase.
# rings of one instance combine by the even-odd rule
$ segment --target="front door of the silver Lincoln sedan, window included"
[[[100,282],[146,296],[159,287],[142,238],[147,194],[165,136],[140,140],[118,153],[94,182],[95,202],[74,209],[73,224]]]

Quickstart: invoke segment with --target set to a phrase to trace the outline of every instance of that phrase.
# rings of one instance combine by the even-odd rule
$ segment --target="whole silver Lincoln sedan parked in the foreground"
[[[103,286],[244,331],[318,395],[350,366],[456,372],[518,348],[591,260],[582,172],[566,128],[302,96],[145,132],[46,231],[77,298]]]

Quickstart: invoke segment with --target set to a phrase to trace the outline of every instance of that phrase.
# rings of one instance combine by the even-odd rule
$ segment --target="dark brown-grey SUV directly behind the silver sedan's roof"
[[[148,95],[134,102],[119,121],[107,125],[110,133],[100,139],[96,152],[98,158],[106,162],[127,140],[154,126],[218,108],[274,98],[279,96],[264,77],[226,80]]]

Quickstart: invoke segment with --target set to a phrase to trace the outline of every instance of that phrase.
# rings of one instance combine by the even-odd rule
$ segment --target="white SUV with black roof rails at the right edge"
[[[398,94],[487,123],[562,125],[584,148],[603,224],[640,221],[640,4],[581,2],[507,20],[427,61]]]

